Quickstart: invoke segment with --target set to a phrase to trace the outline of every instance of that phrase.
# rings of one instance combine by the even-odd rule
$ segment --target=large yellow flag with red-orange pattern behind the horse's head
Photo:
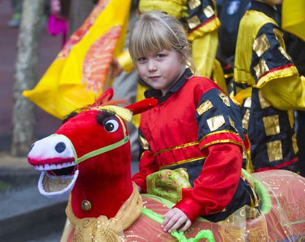
[[[37,86],[23,95],[62,119],[105,91],[110,63],[124,47],[131,0],[100,0]]]

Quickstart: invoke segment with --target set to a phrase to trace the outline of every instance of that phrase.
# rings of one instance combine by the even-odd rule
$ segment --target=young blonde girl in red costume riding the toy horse
[[[191,189],[164,214],[164,231],[186,231],[198,216],[222,221],[254,205],[241,178],[244,133],[239,109],[219,87],[192,74],[184,28],[164,12],[141,15],[130,35],[130,55],[146,97],[158,100],[141,115],[139,172],[132,180],[146,192],[146,176],[159,169],[188,171]]]

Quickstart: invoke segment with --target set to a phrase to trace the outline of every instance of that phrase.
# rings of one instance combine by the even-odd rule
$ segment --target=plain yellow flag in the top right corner
[[[305,1],[284,0],[282,28],[305,41]]]

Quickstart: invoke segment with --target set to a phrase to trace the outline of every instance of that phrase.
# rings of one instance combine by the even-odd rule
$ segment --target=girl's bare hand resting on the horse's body
[[[164,232],[172,232],[173,230],[179,229],[179,232],[184,232],[188,230],[192,222],[184,212],[174,207],[172,210],[168,211],[163,215],[164,221],[161,224]]]

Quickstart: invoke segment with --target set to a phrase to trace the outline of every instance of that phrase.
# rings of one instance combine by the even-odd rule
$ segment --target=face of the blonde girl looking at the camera
[[[137,59],[137,70],[141,80],[162,94],[184,72],[185,64],[175,50],[162,50]]]

